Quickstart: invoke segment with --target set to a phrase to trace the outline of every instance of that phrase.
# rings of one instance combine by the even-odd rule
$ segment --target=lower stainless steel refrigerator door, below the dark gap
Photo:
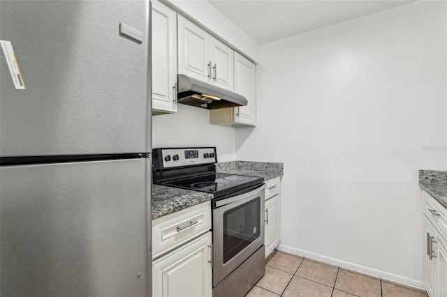
[[[0,296],[150,296],[150,168],[0,167]]]

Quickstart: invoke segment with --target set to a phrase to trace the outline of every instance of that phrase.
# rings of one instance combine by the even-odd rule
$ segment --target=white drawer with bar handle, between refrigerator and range
[[[210,201],[191,206],[152,221],[152,258],[211,229]]]

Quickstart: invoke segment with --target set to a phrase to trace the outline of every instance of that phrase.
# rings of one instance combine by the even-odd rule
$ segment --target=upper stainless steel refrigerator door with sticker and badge
[[[148,0],[1,0],[26,86],[0,49],[1,156],[151,151],[150,32]]]

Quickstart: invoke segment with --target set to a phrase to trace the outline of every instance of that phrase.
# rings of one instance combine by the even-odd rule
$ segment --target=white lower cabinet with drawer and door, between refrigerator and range
[[[152,220],[152,296],[212,295],[211,202]]]

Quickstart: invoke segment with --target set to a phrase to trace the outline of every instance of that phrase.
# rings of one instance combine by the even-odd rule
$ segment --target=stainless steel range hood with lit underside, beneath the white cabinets
[[[177,102],[207,109],[245,106],[248,103],[244,96],[186,75],[177,75]]]

